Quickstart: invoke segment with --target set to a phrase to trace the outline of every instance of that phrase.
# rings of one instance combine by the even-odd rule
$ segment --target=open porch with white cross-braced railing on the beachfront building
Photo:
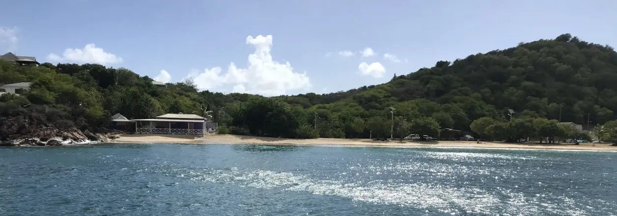
[[[191,134],[204,135],[203,120],[133,119],[136,134]]]

